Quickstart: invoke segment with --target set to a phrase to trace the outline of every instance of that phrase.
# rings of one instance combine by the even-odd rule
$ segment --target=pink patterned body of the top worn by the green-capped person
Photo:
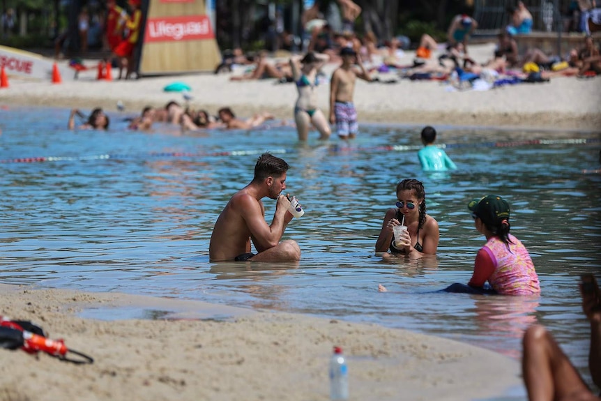
[[[482,247],[495,266],[494,273],[488,278],[489,284],[499,294],[540,294],[538,275],[528,250],[515,236],[509,234],[508,237],[509,248],[496,237]]]

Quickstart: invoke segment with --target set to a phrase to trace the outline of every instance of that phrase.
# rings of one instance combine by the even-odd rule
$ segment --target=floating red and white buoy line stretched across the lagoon
[[[581,139],[528,139],[524,141],[511,142],[468,142],[462,144],[439,144],[442,149],[457,148],[508,148],[517,146],[545,146],[545,145],[584,145],[600,143],[601,139],[581,138]],[[334,152],[365,152],[365,151],[417,151],[422,149],[421,145],[389,145],[389,146],[340,146],[335,144],[330,146],[328,151]],[[102,155],[91,156],[38,156],[29,158],[13,158],[0,160],[0,163],[37,163],[37,162],[63,162],[63,161],[85,161],[85,160],[109,160],[109,159],[132,159],[132,158],[204,158],[218,156],[248,156],[264,153],[264,150],[248,151],[217,151],[217,152],[147,152],[147,153],[106,153]],[[271,149],[269,153],[284,154],[296,153],[294,149]]]

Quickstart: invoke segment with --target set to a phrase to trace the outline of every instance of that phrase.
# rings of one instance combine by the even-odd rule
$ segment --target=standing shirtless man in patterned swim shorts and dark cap
[[[360,56],[351,47],[343,47],[340,56],[342,65],[334,71],[330,81],[330,123],[336,123],[340,138],[351,139],[356,137],[359,130],[357,110],[353,104],[355,82],[357,78],[367,82],[372,79],[363,67]],[[355,61],[359,70],[354,66]]]

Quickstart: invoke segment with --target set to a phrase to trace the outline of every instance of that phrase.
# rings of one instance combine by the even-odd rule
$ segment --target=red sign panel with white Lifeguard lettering
[[[211,20],[206,15],[157,17],[146,21],[144,43],[213,39]]]

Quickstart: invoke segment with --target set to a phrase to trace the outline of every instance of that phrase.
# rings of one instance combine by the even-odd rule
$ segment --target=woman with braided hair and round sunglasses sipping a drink
[[[416,179],[404,179],[397,184],[397,204],[386,211],[382,229],[376,241],[376,252],[420,257],[434,255],[439,245],[439,223],[426,214],[423,184]],[[402,245],[395,243],[393,227],[405,225]],[[386,255],[389,255],[388,253]]]

